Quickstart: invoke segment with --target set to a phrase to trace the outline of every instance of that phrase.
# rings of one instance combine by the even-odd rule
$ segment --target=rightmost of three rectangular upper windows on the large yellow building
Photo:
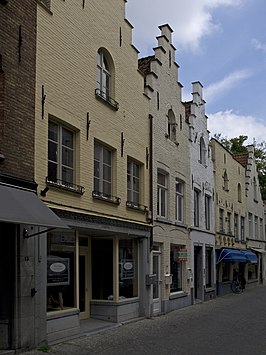
[[[127,200],[140,203],[140,166],[131,159],[127,161]]]

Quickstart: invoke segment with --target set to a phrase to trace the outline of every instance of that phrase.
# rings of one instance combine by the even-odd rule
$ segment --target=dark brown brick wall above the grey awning
[[[0,175],[30,181],[34,180],[36,11],[36,0],[0,3],[0,154],[5,156]]]

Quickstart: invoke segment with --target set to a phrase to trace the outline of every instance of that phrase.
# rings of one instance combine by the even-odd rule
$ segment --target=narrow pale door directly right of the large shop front
[[[161,312],[161,254],[153,252],[152,262],[152,273],[156,275],[156,283],[152,285],[153,314],[158,314]]]

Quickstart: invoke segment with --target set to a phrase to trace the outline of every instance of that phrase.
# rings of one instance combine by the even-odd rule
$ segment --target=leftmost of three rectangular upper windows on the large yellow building
[[[48,181],[72,186],[74,183],[75,133],[61,124],[48,124]]]

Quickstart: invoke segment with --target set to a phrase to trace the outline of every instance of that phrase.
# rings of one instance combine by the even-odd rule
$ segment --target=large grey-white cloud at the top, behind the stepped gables
[[[173,28],[174,43],[179,48],[199,50],[201,39],[220,29],[220,25],[213,19],[213,10],[222,6],[237,7],[242,1],[244,0],[128,0],[126,9],[127,18],[138,29],[134,44],[138,46],[142,43],[146,48],[139,48],[142,52],[151,46],[151,41],[158,35],[158,26],[164,23]]]

